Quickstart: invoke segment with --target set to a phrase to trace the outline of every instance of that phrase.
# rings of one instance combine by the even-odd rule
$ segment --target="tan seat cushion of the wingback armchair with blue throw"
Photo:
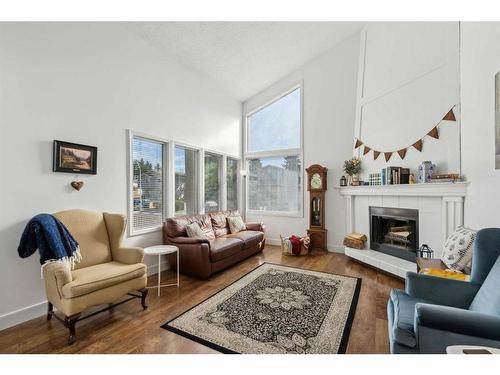
[[[124,281],[142,277],[146,273],[143,263],[124,264],[108,262],[72,271],[73,281],[62,287],[64,298],[75,298],[104,289]]]

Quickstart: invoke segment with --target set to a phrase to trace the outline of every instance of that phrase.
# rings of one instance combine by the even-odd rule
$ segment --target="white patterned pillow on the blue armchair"
[[[472,260],[472,244],[476,231],[458,227],[444,243],[441,260],[454,271],[462,271]]]

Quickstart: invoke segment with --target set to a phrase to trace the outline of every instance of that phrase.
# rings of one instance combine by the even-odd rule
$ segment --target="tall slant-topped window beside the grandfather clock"
[[[302,215],[301,88],[247,116],[247,210]]]

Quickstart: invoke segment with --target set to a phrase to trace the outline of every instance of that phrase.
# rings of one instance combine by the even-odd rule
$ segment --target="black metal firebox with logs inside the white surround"
[[[418,210],[372,207],[370,248],[415,262],[418,249]]]

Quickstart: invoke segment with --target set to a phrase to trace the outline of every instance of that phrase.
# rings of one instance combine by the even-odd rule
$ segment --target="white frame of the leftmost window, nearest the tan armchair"
[[[162,226],[158,227],[151,227],[151,228],[145,228],[145,229],[135,229],[134,228],[134,220],[133,220],[133,211],[134,211],[134,204],[133,204],[133,194],[132,194],[132,184],[134,181],[134,167],[133,167],[133,160],[132,160],[132,143],[134,138],[143,138],[146,140],[151,140],[153,142],[157,142],[163,145],[163,160],[162,160],[162,192],[163,192],[163,197],[162,197],[162,222],[165,220],[165,218],[168,215],[169,208],[171,207],[171,204],[169,204],[169,181],[170,181],[170,165],[169,161],[171,160],[170,158],[170,150],[171,150],[171,145],[168,140],[159,138],[159,137],[154,137],[151,135],[135,132],[135,131],[129,131],[129,147],[128,147],[128,181],[127,181],[127,204],[128,204],[128,234],[129,237],[133,236],[139,236],[142,234],[147,234],[147,233],[153,233],[153,232],[158,232],[162,230]]]

